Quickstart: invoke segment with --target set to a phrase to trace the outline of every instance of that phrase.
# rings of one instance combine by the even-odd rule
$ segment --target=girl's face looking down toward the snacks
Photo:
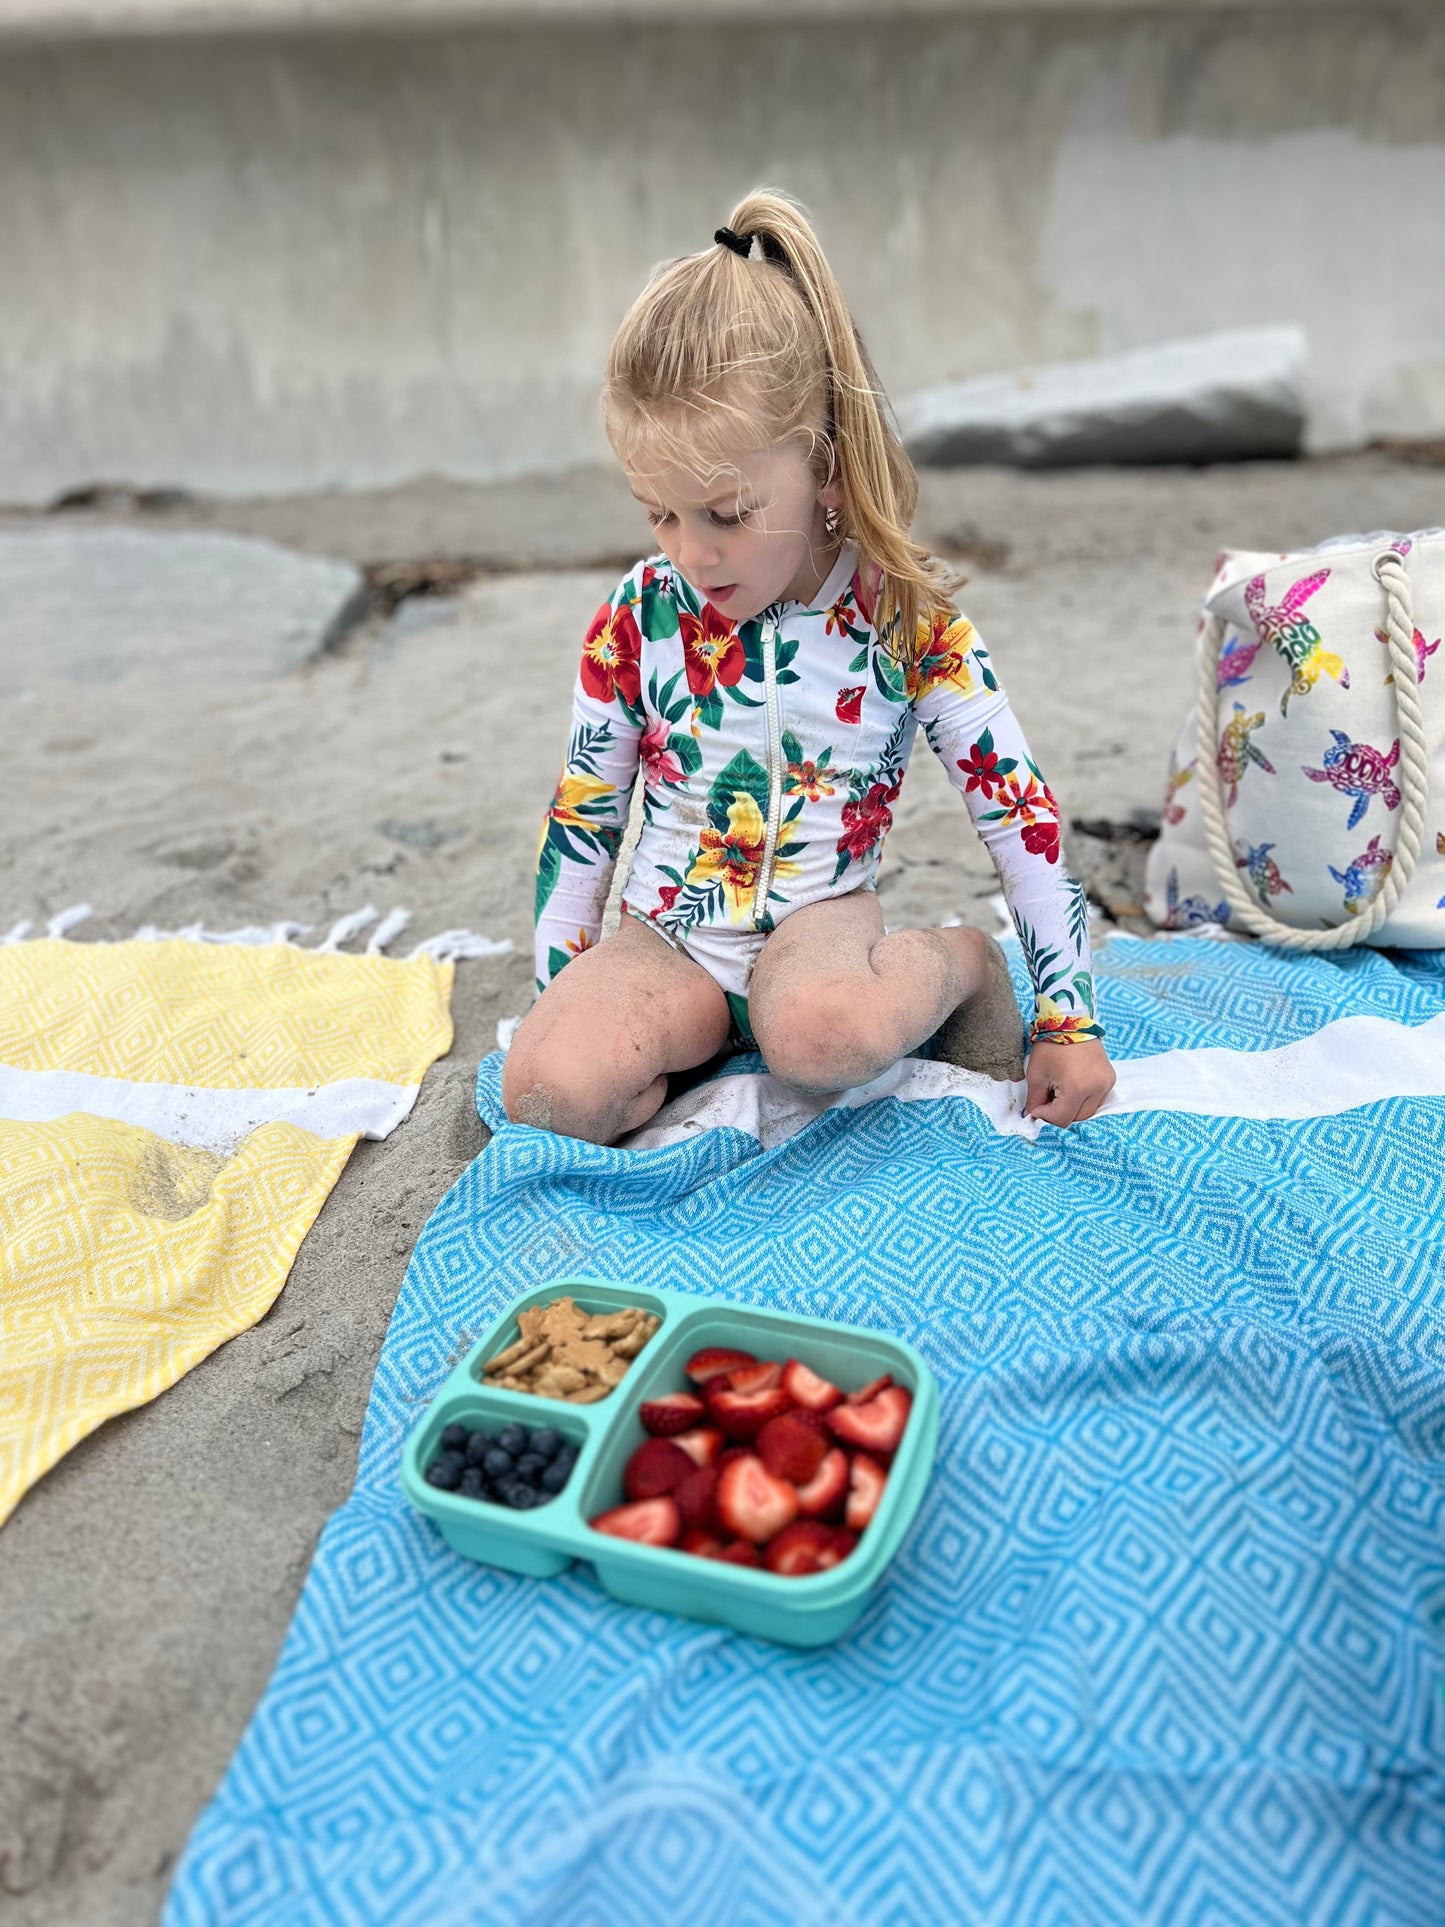
[[[823,518],[842,507],[842,482],[819,488],[798,441],[751,449],[707,474],[628,470],[628,482],[663,555],[732,622],[778,599],[811,601],[838,559]]]

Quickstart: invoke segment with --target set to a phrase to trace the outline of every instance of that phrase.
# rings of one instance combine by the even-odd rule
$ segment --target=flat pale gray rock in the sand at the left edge
[[[0,526],[0,692],[54,678],[283,676],[366,605],[353,563],[274,541]]]

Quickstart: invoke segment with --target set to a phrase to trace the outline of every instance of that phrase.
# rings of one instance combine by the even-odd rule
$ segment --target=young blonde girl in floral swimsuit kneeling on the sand
[[[913,466],[794,200],[759,189],[653,274],[603,405],[661,553],[582,646],[507,1114],[613,1143],[728,1037],[796,1087],[844,1091],[985,996],[977,931],[882,929],[879,852],[923,725],[1029,962],[1027,1108],[1090,1118],[1114,1069],[1058,804],[954,578],[909,540]],[[642,836],[599,942],[638,769]]]

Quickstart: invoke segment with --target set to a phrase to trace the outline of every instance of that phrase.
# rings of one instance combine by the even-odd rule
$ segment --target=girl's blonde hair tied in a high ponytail
[[[888,397],[807,210],[759,187],[728,227],[757,251],[715,241],[663,262],[622,320],[603,383],[607,439],[628,470],[663,455],[696,472],[699,459],[805,436],[819,486],[842,482],[836,532],[877,570],[865,613],[913,663],[933,619],[956,615],[959,578],[909,536],[919,480]]]

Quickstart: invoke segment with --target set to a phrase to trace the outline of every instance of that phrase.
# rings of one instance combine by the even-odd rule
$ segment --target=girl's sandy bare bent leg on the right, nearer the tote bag
[[[776,1077],[852,1091],[917,1050],[985,977],[979,931],[884,937],[879,898],[854,890],[773,931],[748,985],[748,1017]]]

